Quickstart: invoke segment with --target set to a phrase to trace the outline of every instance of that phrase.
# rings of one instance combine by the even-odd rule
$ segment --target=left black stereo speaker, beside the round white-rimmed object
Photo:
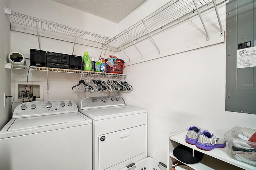
[[[46,67],[46,51],[30,49],[30,65]]]

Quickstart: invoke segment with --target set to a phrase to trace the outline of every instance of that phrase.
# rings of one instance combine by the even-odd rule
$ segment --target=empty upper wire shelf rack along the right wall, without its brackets
[[[196,0],[198,8],[209,5],[210,2],[212,2],[212,0]],[[124,30],[114,38],[111,38],[109,45],[114,47],[124,46],[131,43],[132,40],[137,40],[142,36],[145,36],[148,34],[148,31],[152,33],[161,29],[174,21],[180,20],[180,18],[194,12],[195,10],[196,7],[193,0],[171,0],[143,20]],[[148,28],[148,31],[143,23]]]

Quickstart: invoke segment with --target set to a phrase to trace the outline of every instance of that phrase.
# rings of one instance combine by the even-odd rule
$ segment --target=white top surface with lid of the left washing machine
[[[0,139],[77,126],[92,126],[92,119],[79,112],[11,119],[0,130]]]

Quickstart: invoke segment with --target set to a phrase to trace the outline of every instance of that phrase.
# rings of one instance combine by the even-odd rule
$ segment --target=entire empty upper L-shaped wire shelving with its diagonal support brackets
[[[222,2],[225,2],[226,0],[218,0],[218,1],[222,3]],[[106,49],[104,52],[105,54],[108,48],[116,49],[116,51],[121,51],[121,50],[124,51],[126,47],[129,47],[130,45],[135,45],[136,42],[139,42],[139,40],[143,40],[149,37],[152,38],[151,34],[157,33],[163,29],[170,28],[171,26],[175,25],[174,23],[181,21],[186,16],[197,15],[197,14],[193,14],[196,10],[198,12],[198,15],[200,16],[199,9],[201,8],[210,9],[210,8],[213,8],[213,6],[216,10],[216,15],[218,18],[218,22],[220,24],[220,36],[223,36],[222,25],[220,22],[215,0],[171,0],[170,2],[168,2],[164,6],[162,6],[161,8],[159,8],[158,10],[156,10],[155,12],[147,16],[146,18],[140,20],[133,26],[130,26],[130,28],[124,30],[123,32],[114,36],[113,38],[108,38],[106,36],[101,36],[98,34],[79,30],[69,26],[64,26],[62,24],[57,24],[47,20],[42,20],[32,16],[20,14],[18,12],[11,11],[8,8],[5,8],[5,13],[11,16],[11,22],[14,24],[23,25],[23,26],[27,26],[35,29],[44,30],[44,31],[54,32],[58,34],[64,34],[66,36],[72,36],[75,38],[74,44],[76,43],[76,38],[100,43],[102,47],[102,51],[104,49],[104,46],[106,46]],[[189,15],[189,14],[193,14],[193,15]],[[200,16],[200,19],[202,21],[201,16]],[[202,24],[204,26],[203,21],[202,21]],[[209,38],[208,32],[205,26],[204,26],[204,29],[206,31],[206,37]],[[39,42],[39,38],[38,38],[38,42]],[[160,50],[157,47],[155,42],[154,42],[154,45],[158,49],[158,53],[160,53]],[[136,49],[139,51],[137,46],[136,46]],[[74,47],[73,47],[73,51],[74,51]],[[128,57],[126,53],[125,55]],[[142,56],[142,53],[140,53],[140,55]],[[129,57],[128,59],[130,61]]]

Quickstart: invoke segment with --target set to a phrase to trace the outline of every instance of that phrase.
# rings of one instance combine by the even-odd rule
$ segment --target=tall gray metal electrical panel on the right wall
[[[226,111],[256,114],[256,0],[226,4]]]

